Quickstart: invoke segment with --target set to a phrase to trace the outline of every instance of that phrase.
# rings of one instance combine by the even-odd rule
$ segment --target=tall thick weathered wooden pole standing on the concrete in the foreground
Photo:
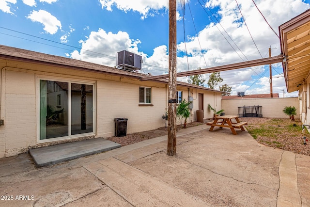
[[[167,155],[176,154],[176,0],[169,0],[169,92]]]

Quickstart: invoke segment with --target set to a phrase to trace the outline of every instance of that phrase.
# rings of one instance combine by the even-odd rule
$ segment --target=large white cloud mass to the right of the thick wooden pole
[[[299,15],[310,7],[302,0],[256,0],[255,2],[267,19],[268,23],[277,32],[279,25],[290,20],[294,16]],[[263,58],[268,57],[268,48],[270,46],[273,48],[272,56],[278,55],[280,53],[279,38],[269,28],[253,2],[248,0],[238,0],[238,3],[248,25],[249,31],[251,32],[251,35]],[[249,35],[246,25],[242,20],[235,1],[210,0],[207,2],[207,6],[212,8],[220,8],[217,13],[217,15],[219,15],[217,18],[220,20],[220,24],[215,22],[206,25],[206,27],[199,32],[198,36],[189,38],[189,41],[186,43],[186,49],[191,55],[191,57],[189,57],[190,60],[195,59],[198,61],[197,57],[202,56],[201,50],[206,51],[204,57],[208,67],[261,58]],[[212,18],[215,20],[213,16]],[[230,37],[226,34],[223,28],[230,35]],[[225,37],[223,37],[221,33]],[[229,41],[229,43],[225,38]],[[230,44],[234,49],[230,46]],[[200,45],[202,48],[200,48]],[[239,51],[238,48],[240,48],[246,57]],[[179,44],[178,49],[185,52],[184,43]],[[236,52],[234,50],[236,50]],[[202,68],[206,67],[202,59],[197,63]],[[247,90],[253,81],[256,81],[253,86],[258,86],[258,88],[254,90],[249,88],[247,90],[248,94],[270,93],[268,92],[270,91],[269,78],[267,78],[269,77],[269,72],[265,74],[267,77],[263,76],[258,80],[252,80],[252,75],[255,76],[257,73],[262,74],[263,72],[262,66],[255,68],[257,69],[252,67],[252,70],[248,68],[221,72],[224,82],[220,85],[226,83],[232,86],[232,94],[234,95],[236,92]],[[256,73],[254,73],[253,70],[255,70]],[[279,71],[281,70],[282,69],[279,69]],[[207,75],[204,75],[204,77],[207,77]],[[265,79],[267,79],[267,82]],[[281,86],[274,87],[276,87],[277,91],[286,89],[284,81]]]

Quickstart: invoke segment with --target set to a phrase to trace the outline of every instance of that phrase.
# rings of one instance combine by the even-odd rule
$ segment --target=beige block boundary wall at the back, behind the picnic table
[[[298,97],[287,98],[248,98],[248,99],[226,99],[222,100],[222,107],[226,115],[237,115],[238,107],[262,106],[263,117],[266,118],[289,118],[282,110],[285,106],[294,106],[297,109],[296,119],[299,119]]]

